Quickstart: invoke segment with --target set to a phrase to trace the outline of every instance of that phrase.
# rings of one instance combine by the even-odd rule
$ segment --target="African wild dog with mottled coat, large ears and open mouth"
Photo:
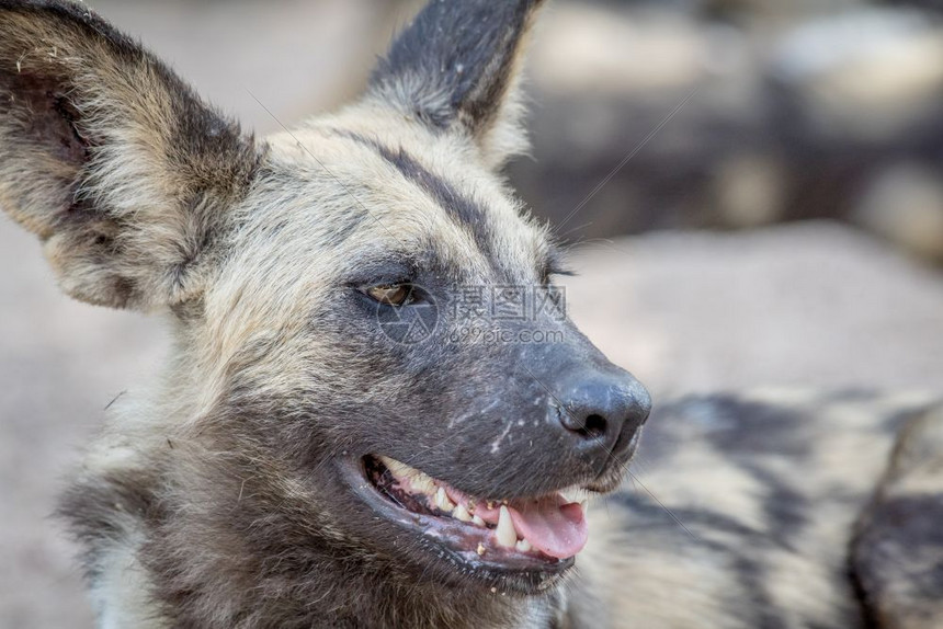
[[[541,3],[433,0],[360,102],[260,141],[84,5],[0,0],[0,206],[66,293],[175,332],[60,510],[102,627],[940,619],[922,399],[666,408],[645,478],[671,512],[616,494],[587,545],[567,490],[616,490],[648,394],[553,311],[492,323],[558,343],[488,343],[444,307],[560,272],[498,174]]]

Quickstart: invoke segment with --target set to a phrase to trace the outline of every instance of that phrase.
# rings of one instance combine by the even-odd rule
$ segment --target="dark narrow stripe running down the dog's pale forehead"
[[[416,158],[402,148],[393,150],[375,140],[371,140],[357,134],[341,131],[355,142],[374,149],[389,164],[396,167],[402,176],[414,183],[425,192],[436,204],[445,209],[453,220],[467,228],[480,250],[491,258],[491,238],[488,230],[485,209],[473,199],[459,193],[444,179],[429,171]]]

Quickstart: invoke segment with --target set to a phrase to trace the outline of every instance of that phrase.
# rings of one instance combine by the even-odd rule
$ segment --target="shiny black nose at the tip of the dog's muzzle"
[[[552,404],[571,447],[588,455],[623,454],[651,411],[648,391],[621,370],[593,370],[569,380]]]

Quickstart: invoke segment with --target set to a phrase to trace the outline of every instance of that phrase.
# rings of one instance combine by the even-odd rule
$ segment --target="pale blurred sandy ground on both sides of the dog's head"
[[[159,365],[163,334],[60,296],[9,221],[0,263],[0,627],[81,629],[73,549],[48,514],[103,408]],[[573,318],[656,400],[760,385],[943,392],[943,278],[845,228],[651,235],[573,266]]]

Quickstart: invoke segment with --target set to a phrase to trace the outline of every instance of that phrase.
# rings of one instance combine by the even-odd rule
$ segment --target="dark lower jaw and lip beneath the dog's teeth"
[[[459,583],[467,584],[471,580],[490,588],[495,594],[534,595],[557,584],[575,564],[573,558],[523,556],[513,549],[504,550],[493,546],[489,546],[482,553],[478,547],[476,531],[467,525],[410,512],[382,495],[366,479],[361,459],[339,459],[337,467],[354,495],[382,518],[382,522],[413,537],[413,544],[421,547],[427,554],[423,561],[446,568],[446,572],[453,574]]]

